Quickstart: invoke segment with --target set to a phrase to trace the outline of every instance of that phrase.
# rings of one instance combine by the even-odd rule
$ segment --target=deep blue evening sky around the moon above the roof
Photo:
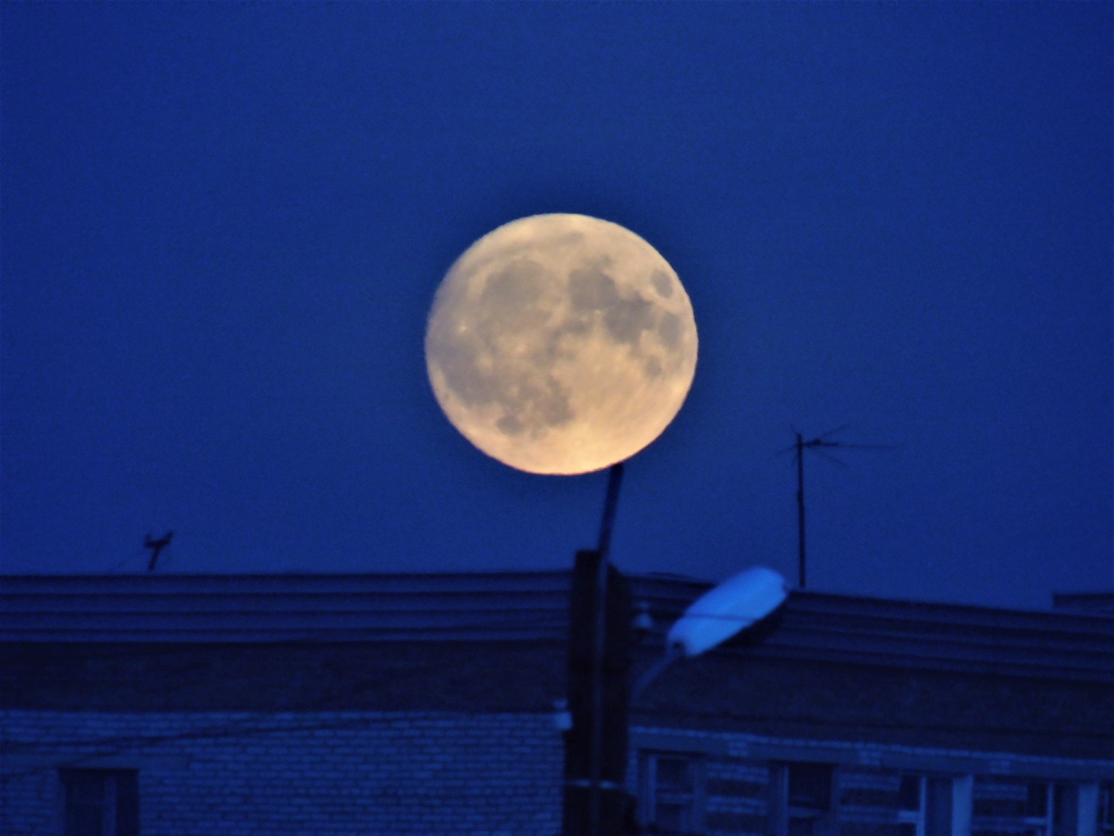
[[[472,448],[422,353],[476,239],[674,266],[681,414],[613,557],[1044,607],[1114,586],[1100,3],[2,6],[2,567],[556,570],[605,474]]]

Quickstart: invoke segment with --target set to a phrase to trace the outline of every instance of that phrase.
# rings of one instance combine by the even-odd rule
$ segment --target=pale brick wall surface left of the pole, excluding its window
[[[555,836],[548,713],[0,712],[0,832],[58,833],[59,766],[139,770],[144,836]]]

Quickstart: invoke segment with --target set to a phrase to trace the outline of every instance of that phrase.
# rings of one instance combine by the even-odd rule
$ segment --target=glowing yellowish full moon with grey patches
[[[629,230],[535,215],[449,269],[426,366],[444,415],[483,453],[528,473],[589,473],[673,420],[696,370],[696,322],[673,268]]]

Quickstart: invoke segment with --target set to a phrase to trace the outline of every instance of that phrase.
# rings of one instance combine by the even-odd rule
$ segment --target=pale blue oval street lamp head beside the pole
[[[666,648],[698,657],[770,615],[786,596],[785,579],[772,568],[754,566],[740,572],[685,610],[670,630]]]

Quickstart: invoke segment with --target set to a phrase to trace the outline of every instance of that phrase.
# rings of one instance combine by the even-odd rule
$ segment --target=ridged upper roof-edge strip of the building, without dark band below
[[[649,643],[711,584],[632,576]],[[568,572],[9,575],[3,643],[563,642]],[[1114,618],[793,592],[722,652],[1114,682]]]

